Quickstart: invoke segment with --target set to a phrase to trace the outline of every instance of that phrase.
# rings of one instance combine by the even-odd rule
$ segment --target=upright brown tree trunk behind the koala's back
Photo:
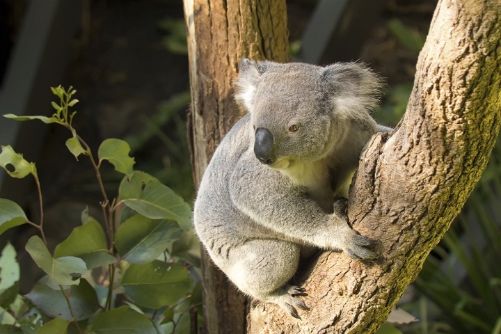
[[[241,115],[232,79],[241,58],[289,61],[285,0],[184,0],[191,111],[189,139],[195,184],[223,136]],[[202,251],[205,331],[245,333],[246,298]]]

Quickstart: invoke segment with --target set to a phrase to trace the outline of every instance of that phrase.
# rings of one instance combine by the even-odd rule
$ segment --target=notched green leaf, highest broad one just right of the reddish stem
[[[100,161],[108,160],[117,172],[132,177],[134,158],[129,157],[130,146],[127,141],[109,138],[103,141],[97,151]]]

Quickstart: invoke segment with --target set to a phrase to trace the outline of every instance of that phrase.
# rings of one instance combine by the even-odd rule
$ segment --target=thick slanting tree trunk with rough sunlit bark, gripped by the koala
[[[499,0],[440,0],[420,53],[411,100],[390,136],[360,158],[348,214],[378,239],[376,262],[324,253],[301,282],[302,320],[254,302],[249,333],[373,333],[459,214],[498,136]]]

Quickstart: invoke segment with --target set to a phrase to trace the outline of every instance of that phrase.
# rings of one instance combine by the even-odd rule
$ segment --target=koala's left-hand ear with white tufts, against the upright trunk
[[[247,111],[252,111],[254,106],[255,91],[261,80],[261,74],[267,71],[267,61],[256,62],[243,58],[239,63],[239,77],[234,81],[236,93],[235,100],[239,106]]]

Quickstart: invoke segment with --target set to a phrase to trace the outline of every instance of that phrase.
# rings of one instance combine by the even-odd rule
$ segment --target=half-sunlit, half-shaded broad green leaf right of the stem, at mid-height
[[[115,246],[122,259],[141,264],[159,257],[181,233],[173,221],[152,220],[136,214],[118,228]]]

